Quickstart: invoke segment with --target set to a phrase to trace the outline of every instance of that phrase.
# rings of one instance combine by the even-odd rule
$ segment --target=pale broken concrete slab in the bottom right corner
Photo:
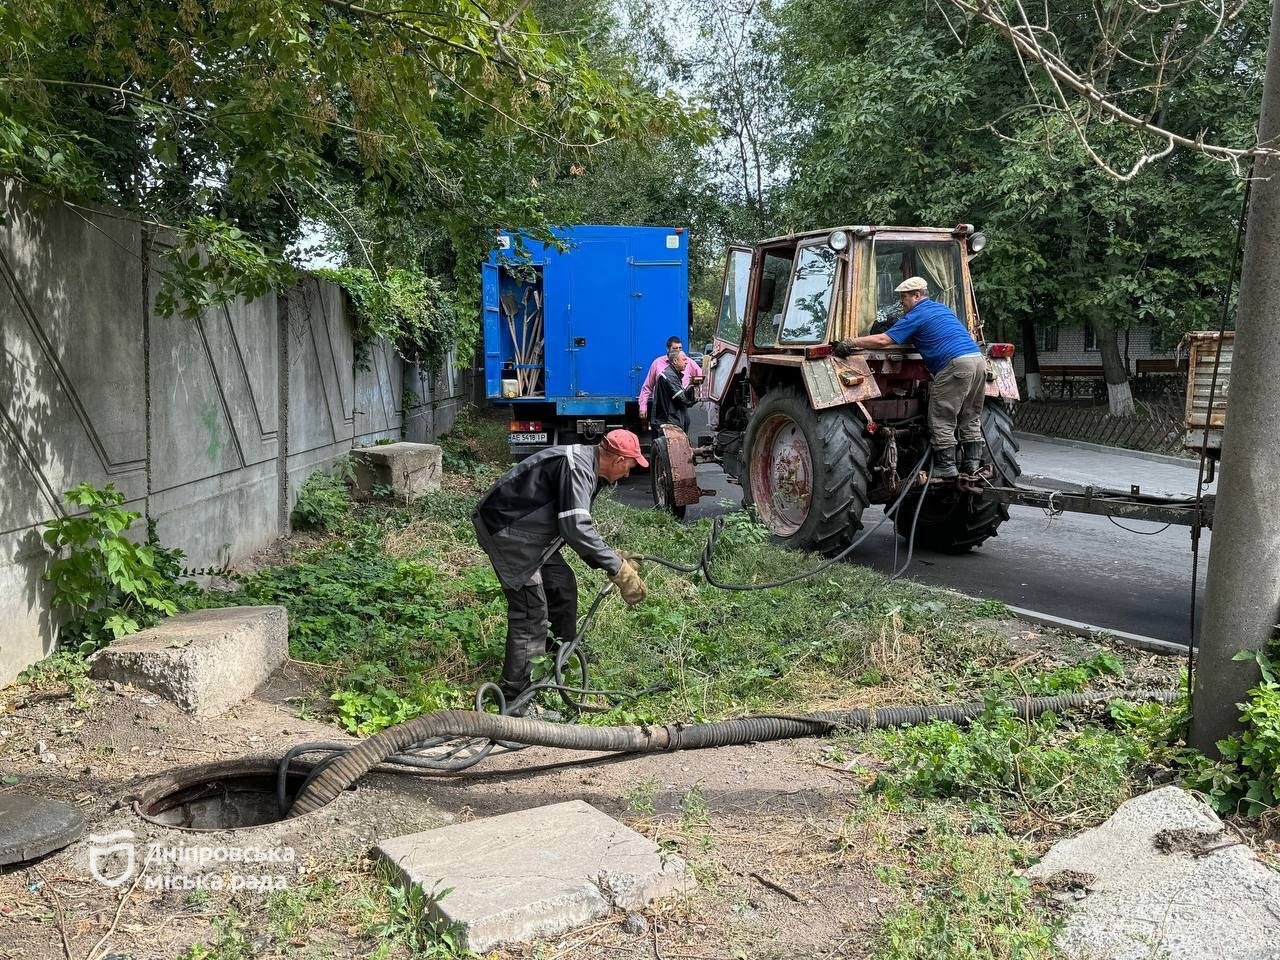
[[[1057,940],[1070,957],[1276,960],[1280,873],[1234,841],[1204,804],[1164,787],[1053,845],[1027,876],[1085,892]]]

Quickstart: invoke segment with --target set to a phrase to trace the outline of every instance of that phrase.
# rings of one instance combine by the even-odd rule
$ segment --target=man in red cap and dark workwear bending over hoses
[[[548,621],[561,641],[577,634],[577,577],[561,556],[564,544],[589,567],[605,571],[628,604],[645,598],[636,564],[612,550],[591,521],[600,488],[636,465],[649,461],[630,430],[611,430],[594,447],[548,447],[503,474],[471,515],[507,596],[500,686],[508,703],[529,687],[532,659],[550,648]]]

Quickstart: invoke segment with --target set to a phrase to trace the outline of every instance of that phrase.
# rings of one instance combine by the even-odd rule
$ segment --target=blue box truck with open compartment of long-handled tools
[[[640,431],[637,396],[689,335],[681,227],[566,227],[563,250],[499,230],[483,265],[485,392],[511,408],[512,456]],[[648,438],[641,433],[641,440]]]

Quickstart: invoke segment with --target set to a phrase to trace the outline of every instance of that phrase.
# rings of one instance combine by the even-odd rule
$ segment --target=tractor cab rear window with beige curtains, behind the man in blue
[[[923,276],[929,297],[951,307],[960,323],[969,325],[964,291],[964,261],[954,239],[881,239],[869,243],[858,279],[858,333],[884,333],[902,317],[893,288],[908,276]]]

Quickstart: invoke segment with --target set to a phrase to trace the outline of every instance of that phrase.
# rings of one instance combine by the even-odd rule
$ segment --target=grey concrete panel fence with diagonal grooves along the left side
[[[41,530],[76,484],[115,484],[192,566],[229,563],[287,534],[306,477],[353,445],[453,424],[454,365],[375,343],[356,369],[328,282],[159,316],[163,233],[13,184],[0,202],[0,684],[52,649]]]

